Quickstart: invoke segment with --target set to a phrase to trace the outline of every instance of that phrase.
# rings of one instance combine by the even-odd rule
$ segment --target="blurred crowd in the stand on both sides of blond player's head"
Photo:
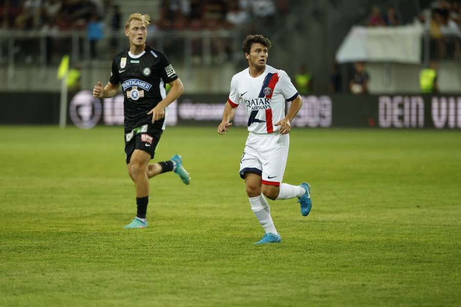
[[[288,11],[289,0],[163,0],[155,26],[163,30],[220,29],[269,18]],[[16,30],[83,30],[104,19],[112,0],[2,0],[0,28]]]

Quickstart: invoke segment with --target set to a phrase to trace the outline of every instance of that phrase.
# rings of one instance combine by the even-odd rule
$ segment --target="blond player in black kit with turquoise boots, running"
[[[163,129],[166,107],[184,92],[184,86],[166,56],[145,45],[149,15],[131,14],[125,25],[125,35],[130,49],[115,56],[111,78],[106,86],[98,84],[93,89],[97,98],[113,97],[122,86],[124,101],[125,153],[128,173],[136,185],[137,214],[124,229],[148,226],[145,218],[149,203],[149,178],[174,171],[182,182],[190,183],[190,176],[182,166],[182,158],[149,164],[154,158]],[[166,95],[165,84],[171,85]]]

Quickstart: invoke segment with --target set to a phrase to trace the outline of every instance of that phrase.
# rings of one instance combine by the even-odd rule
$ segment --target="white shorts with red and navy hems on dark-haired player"
[[[240,177],[245,173],[256,173],[262,177],[262,184],[280,186],[285,173],[290,137],[288,134],[249,133],[240,160]]]

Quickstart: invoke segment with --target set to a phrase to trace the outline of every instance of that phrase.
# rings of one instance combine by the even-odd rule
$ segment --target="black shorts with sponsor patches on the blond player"
[[[143,150],[150,153],[151,159],[154,159],[155,148],[157,147],[163,130],[153,127],[151,123],[144,124],[133,130],[125,130],[125,154],[127,155],[127,164],[130,163],[131,155],[135,149]]]

